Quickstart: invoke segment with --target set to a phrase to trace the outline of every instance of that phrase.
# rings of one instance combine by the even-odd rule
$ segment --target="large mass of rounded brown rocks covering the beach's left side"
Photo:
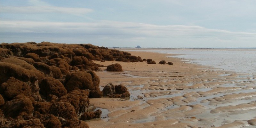
[[[0,128],[87,128],[78,117],[100,117],[101,111],[88,112],[89,98],[105,95],[99,88],[99,76],[92,71],[103,66],[92,60],[118,58],[142,61],[128,52],[92,44],[0,44]],[[114,67],[122,71],[121,65]],[[129,96],[122,85],[109,94]]]

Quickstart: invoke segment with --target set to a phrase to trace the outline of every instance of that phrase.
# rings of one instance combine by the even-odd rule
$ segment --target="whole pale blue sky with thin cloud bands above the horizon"
[[[255,0],[0,0],[0,43],[256,47]]]

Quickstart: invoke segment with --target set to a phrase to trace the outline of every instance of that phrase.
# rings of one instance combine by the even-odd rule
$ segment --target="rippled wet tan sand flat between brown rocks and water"
[[[129,51],[130,52],[130,51]],[[119,63],[123,72],[95,71],[101,90],[108,83],[123,84],[130,99],[90,99],[103,110],[90,128],[191,128],[256,127],[256,76],[185,63],[170,54],[130,52],[146,62],[93,61],[108,66]],[[173,65],[158,64],[160,60]]]

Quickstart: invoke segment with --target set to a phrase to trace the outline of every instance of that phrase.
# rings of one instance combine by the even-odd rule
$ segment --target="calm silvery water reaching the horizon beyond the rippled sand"
[[[131,51],[131,50],[130,50]],[[183,58],[191,63],[213,66],[237,73],[256,74],[256,50],[135,50],[158,53],[176,54],[176,58]]]

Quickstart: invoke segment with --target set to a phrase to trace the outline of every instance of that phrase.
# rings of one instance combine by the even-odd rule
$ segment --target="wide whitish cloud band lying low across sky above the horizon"
[[[56,42],[62,42],[64,39],[75,41],[73,43],[80,43],[79,41],[115,42],[121,46],[123,43],[136,45],[141,42],[150,45],[148,47],[159,47],[159,42],[161,42],[162,47],[170,47],[170,42],[172,42],[175,44],[172,44],[173,47],[256,47],[254,43],[256,33],[231,32],[200,26],[164,26],[107,20],[79,23],[0,20],[0,33],[8,33],[9,36],[22,34],[28,37],[42,33],[37,36],[40,38],[43,36],[45,39],[52,39],[55,36]],[[102,46],[102,44],[98,45]]]

